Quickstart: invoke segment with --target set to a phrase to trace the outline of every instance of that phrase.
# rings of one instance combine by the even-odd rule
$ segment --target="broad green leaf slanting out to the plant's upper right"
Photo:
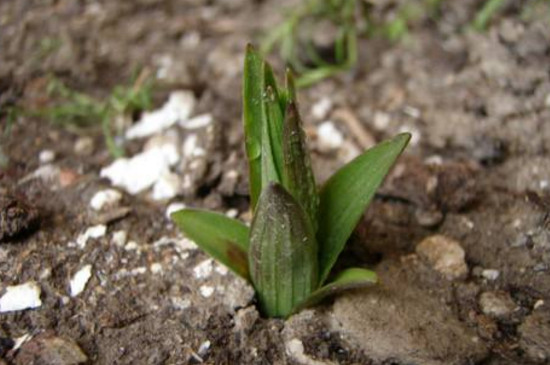
[[[369,149],[338,170],[321,189],[317,232],[321,283],[410,137],[399,134]]]

